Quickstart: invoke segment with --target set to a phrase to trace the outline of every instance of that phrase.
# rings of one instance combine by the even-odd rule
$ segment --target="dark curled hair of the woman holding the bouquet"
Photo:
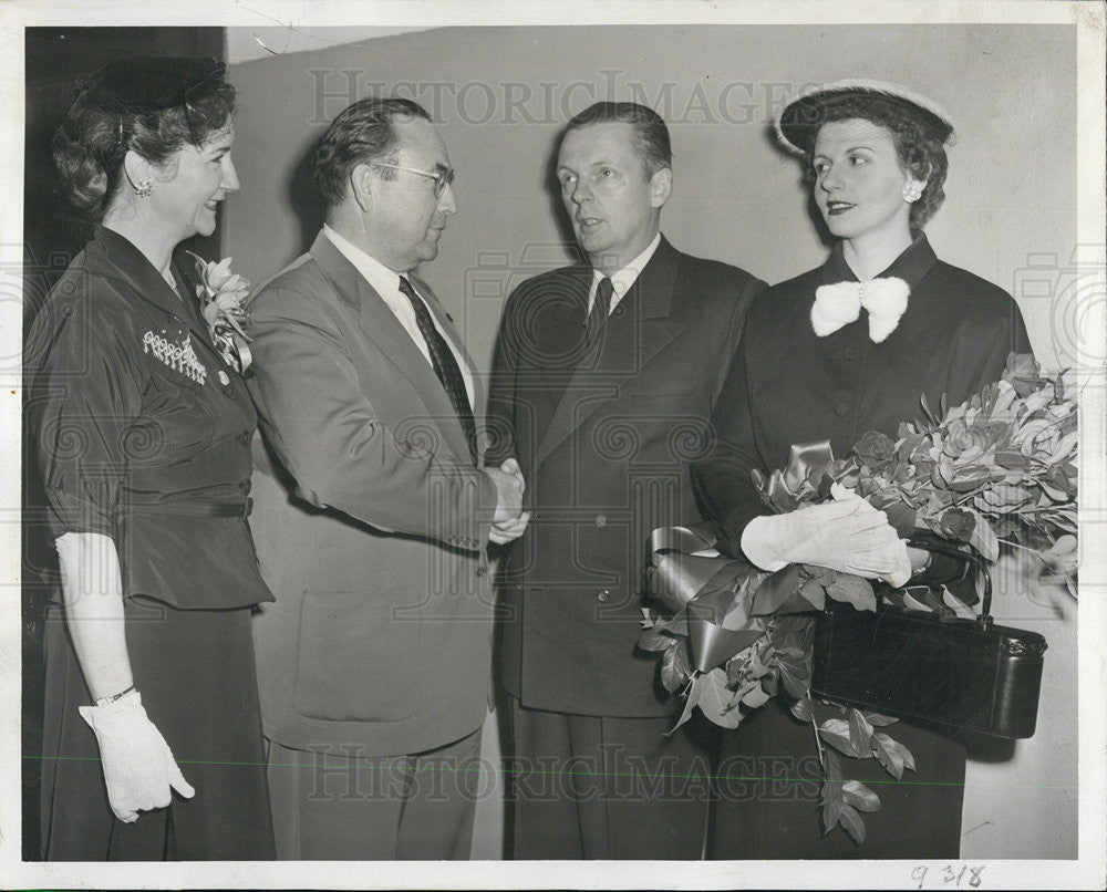
[[[880,96],[848,96],[828,104],[823,111],[820,126],[831,121],[863,118],[887,129],[896,146],[900,167],[927,187],[919,200],[911,205],[911,229],[921,230],[945,200],[945,174],[949,159],[943,141],[920,120],[919,115],[901,104]],[[809,175],[814,157],[814,139],[805,155]]]

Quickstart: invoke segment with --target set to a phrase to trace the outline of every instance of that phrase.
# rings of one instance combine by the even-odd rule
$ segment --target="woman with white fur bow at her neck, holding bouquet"
[[[869,431],[894,438],[922,394],[931,406],[943,394],[956,405],[997,381],[1010,352],[1030,352],[1011,297],[943,263],[922,232],[944,198],[953,126],[904,87],[841,81],[790,100],[776,131],[809,169],[837,241],[821,267],[751,308],[717,403],[718,447],[694,469],[697,487],[724,550],[763,569],[803,562],[898,585],[940,581],[955,559],[908,550],[882,517],[879,529],[844,520],[840,504],[767,516],[749,471],[784,467],[793,444],[829,439],[840,457]],[[817,512],[826,522],[811,522]],[[777,701],[753,713],[723,744],[712,855],[956,858],[963,745],[907,722],[887,730],[917,770],[894,782],[876,759],[844,759],[847,778],[871,781],[881,801],[858,846],[842,829],[823,834],[810,726]]]

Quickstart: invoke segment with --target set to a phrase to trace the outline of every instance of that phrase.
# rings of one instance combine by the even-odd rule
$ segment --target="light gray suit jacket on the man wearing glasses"
[[[277,599],[255,625],[266,736],[346,756],[456,740],[488,704],[495,487],[430,363],[323,234],[250,314],[251,527]]]

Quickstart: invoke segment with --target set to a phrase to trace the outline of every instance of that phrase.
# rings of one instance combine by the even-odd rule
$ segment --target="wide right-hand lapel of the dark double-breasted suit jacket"
[[[539,439],[538,465],[602,405],[618,398],[622,385],[641,374],[650,360],[684,330],[684,323],[672,319],[679,266],[680,255],[662,238],[645,269],[612,311],[601,342],[578,363],[568,384],[561,385],[550,423]]]

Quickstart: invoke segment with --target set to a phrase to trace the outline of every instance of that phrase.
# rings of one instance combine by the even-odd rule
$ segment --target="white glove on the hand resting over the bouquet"
[[[911,559],[884,512],[848,489],[832,492],[837,501],[749,521],[742,533],[746,558],[770,572],[809,563],[903,585]]]

